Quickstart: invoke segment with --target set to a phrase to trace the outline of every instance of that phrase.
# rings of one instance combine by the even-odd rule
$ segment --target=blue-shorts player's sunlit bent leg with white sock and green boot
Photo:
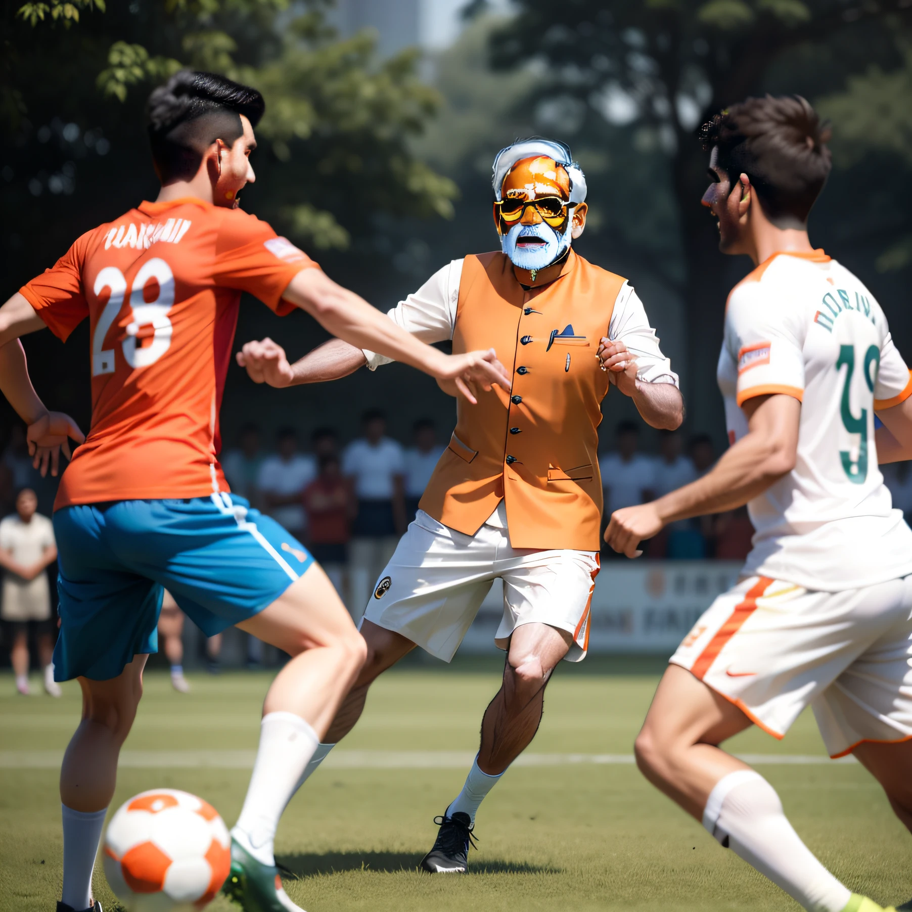
[[[367,648],[316,564],[272,605],[238,627],[292,658],[266,693],[254,774],[232,830],[226,889],[245,912],[294,910],[278,880],[275,830],[358,677]]]

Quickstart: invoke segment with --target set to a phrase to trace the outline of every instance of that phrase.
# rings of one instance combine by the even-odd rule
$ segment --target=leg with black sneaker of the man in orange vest
[[[573,645],[565,630],[523,624],[513,631],[503,665],[503,684],[484,710],[482,743],[462,791],[442,817],[440,832],[421,867],[436,874],[464,874],[475,814],[506,768],[529,746],[544,710],[544,688],[557,663]]]

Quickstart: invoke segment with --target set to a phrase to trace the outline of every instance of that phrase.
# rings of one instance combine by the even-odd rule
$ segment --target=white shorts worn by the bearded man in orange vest
[[[503,579],[503,618],[494,637],[507,648],[523,624],[547,624],[574,638],[578,662],[589,642],[595,551],[513,548],[506,529],[456,532],[419,510],[374,585],[364,617],[449,662],[495,579]]]

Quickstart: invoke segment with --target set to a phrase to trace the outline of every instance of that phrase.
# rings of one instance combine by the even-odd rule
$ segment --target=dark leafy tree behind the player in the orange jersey
[[[418,52],[378,59],[370,33],[337,36],[326,21],[328,5],[6,4],[0,16],[6,294],[53,263],[78,234],[140,199],[154,199],[144,101],[154,85],[188,66],[264,93],[258,180],[244,192],[244,207],[315,252],[346,285],[376,299],[378,286],[395,275],[389,225],[406,217],[449,217],[457,191],[409,150],[409,137],[439,103],[418,78]],[[243,308],[239,333],[275,332],[271,318],[265,308]],[[279,332],[304,347],[320,337],[315,330],[298,316]],[[39,362],[39,385],[85,423],[85,343],[77,337],[61,353],[59,343],[41,333],[26,347]]]

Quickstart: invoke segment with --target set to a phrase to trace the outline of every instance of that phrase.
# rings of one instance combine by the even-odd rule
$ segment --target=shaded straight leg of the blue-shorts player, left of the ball
[[[63,895],[72,909],[91,905],[92,867],[117,784],[120,747],[130,734],[142,696],[147,656],[136,656],[117,678],[79,678],[82,720],[60,768],[63,805]]]

